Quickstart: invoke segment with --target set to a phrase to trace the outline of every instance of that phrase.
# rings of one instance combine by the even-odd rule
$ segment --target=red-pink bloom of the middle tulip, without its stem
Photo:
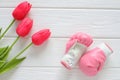
[[[33,20],[32,19],[24,18],[22,20],[22,22],[16,28],[16,33],[19,36],[24,37],[30,32],[30,30],[32,28],[32,25],[33,25]]]

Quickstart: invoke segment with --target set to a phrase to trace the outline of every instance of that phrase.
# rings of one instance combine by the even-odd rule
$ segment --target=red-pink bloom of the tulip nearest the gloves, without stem
[[[50,37],[50,34],[51,32],[49,29],[40,30],[32,35],[32,43],[35,45],[41,45]]]

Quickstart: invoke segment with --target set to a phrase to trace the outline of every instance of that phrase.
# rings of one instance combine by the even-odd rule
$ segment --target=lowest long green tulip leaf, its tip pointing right
[[[0,68],[0,74],[8,72],[15,68],[18,64],[20,64],[26,57],[19,58],[19,59],[12,59],[11,61],[8,61],[3,67]]]

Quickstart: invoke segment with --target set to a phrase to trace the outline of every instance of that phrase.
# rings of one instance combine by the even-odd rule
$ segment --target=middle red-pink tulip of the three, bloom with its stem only
[[[16,28],[16,33],[18,34],[18,37],[14,40],[11,46],[4,47],[4,49],[8,50],[8,52],[12,49],[12,47],[15,45],[15,43],[19,40],[20,37],[25,37],[31,30],[33,25],[33,20],[30,18],[24,18],[21,23],[18,24],[18,27]],[[7,53],[8,53],[7,52]],[[7,54],[6,53],[6,54]],[[1,53],[2,54],[2,53]],[[2,54],[3,55],[3,54]],[[1,55],[0,55],[1,56]]]

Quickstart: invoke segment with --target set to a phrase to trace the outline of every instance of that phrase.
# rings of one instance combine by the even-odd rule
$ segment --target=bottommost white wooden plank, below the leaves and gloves
[[[120,68],[106,68],[94,77],[84,75],[79,69],[68,71],[63,68],[20,67],[0,80],[119,80]]]

